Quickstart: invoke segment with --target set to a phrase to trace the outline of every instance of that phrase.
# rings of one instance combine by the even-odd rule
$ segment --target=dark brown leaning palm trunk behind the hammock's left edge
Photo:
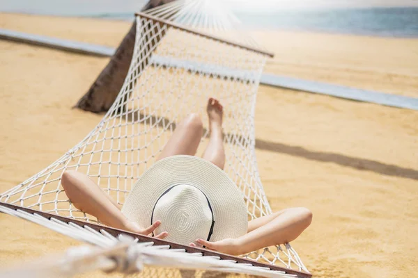
[[[150,0],[141,11],[148,10],[161,6],[164,3],[169,3],[173,0]],[[119,91],[122,88],[123,82],[130,67],[134,51],[135,36],[137,35],[137,23],[134,21],[130,30],[123,38],[115,54],[111,57],[109,63],[100,72],[98,78],[91,85],[86,94],[79,99],[75,108],[80,108],[84,111],[94,113],[106,112],[114,103]],[[164,34],[163,34],[164,35]],[[158,38],[161,40],[163,35]],[[158,41],[155,41],[155,44]],[[148,65],[148,60],[145,60],[142,69]]]

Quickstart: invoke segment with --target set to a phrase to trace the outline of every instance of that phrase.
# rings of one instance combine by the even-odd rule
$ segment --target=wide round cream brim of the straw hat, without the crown
[[[169,156],[154,163],[132,188],[123,214],[141,227],[149,227],[157,199],[175,184],[195,186],[208,198],[215,220],[210,241],[247,233],[247,208],[242,193],[223,170],[196,156]]]

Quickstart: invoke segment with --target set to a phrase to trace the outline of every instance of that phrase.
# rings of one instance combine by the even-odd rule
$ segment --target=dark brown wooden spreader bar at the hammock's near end
[[[84,222],[84,221],[75,220],[75,219],[72,219],[72,218],[66,218],[66,217],[56,215],[56,214],[52,214],[52,213],[45,213],[43,211],[36,211],[34,209],[31,209],[31,208],[24,208],[22,206],[16,206],[14,204],[7,204],[7,203],[0,202],[0,206],[6,206],[7,208],[11,208],[15,211],[20,210],[20,211],[26,211],[26,213],[38,214],[38,215],[42,216],[43,218],[47,218],[48,220],[50,220],[51,218],[55,218],[56,220],[60,220],[60,221],[65,222],[65,223],[70,223],[71,222],[71,223],[77,224],[80,227],[88,226],[91,229],[94,229],[95,231],[98,231],[99,233],[100,233],[100,230],[104,230],[104,231],[107,231],[109,234],[111,234],[112,236],[114,236],[116,238],[119,235],[126,235],[126,236],[131,236],[132,238],[136,238],[139,243],[153,242],[154,245],[169,245],[170,248],[172,248],[172,249],[185,249],[187,253],[202,253],[203,256],[219,256],[221,259],[224,259],[224,260],[233,260],[233,261],[237,261],[238,263],[247,263],[247,264],[251,264],[251,265],[254,265],[254,266],[261,266],[263,268],[270,268],[270,270],[277,270],[277,271],[286,272],[287,274],[297,275],[297,277],[300,277],[300,278],[311,278],[312,277],[312,275],[310,273],[307,273],[307,272],[301,272],[301,271],[292,270],[292,269],[289,269],[289,268],[282,268],[280,266],[270,265],[270,264],[267,264],[267,263],[259,263],[258,261],[252,261],[252,260],[249,260],[249,259],[240,258],[238,256],[231,256],[231,255],[227,255],[227,254],[222,254],[222,253],[207,250],[207,249],[204,249],[204,248],[191,247],[191,246],[187,246],[187,245],[180,245],[180,244],[176,244],[176,243],[171,243],[169,241],[160,240],[160,239],[153,238],[153,237],[150,237],[150,236],[142,236],[142,235],[139,235],[139,234],[131,233],[129,231],[123,231],[123,230],[120,230],[120,229],[114,229],[114,228],[103,226],[103,225],[100,225],[100,224],[94,224],[94,223],[91,223],[91,222]]]

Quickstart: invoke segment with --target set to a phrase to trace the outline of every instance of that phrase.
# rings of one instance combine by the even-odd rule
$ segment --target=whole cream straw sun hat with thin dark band
[[[196,156],[154,163],[132,188],[122,212],[143,228],[160,220],[155,234],[168,231],[166,240],[183,245],[247,233],[242,193],[224,171]]]

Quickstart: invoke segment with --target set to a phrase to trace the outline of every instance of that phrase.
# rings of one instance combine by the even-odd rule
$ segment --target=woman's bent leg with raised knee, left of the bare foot
[[[203,124],[197,114],[188,115],[174,130],[157,161],[169,156],[187,154],[194,156],[203,136]]]

